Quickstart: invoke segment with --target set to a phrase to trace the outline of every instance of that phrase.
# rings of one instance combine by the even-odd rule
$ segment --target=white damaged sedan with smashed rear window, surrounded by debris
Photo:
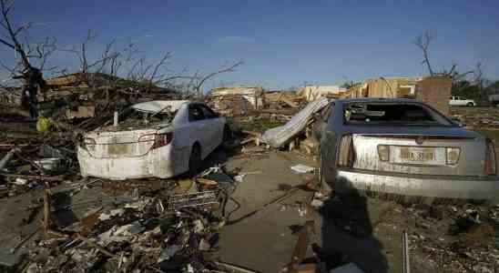
[[[83,177],[124,180],[195,174],[229,132],[224,117],[187,100],[140,103],[121,113],[119,120],[81,138],[77,157]]]

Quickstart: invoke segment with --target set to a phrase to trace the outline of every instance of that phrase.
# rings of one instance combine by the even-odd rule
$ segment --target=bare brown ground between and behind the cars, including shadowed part
[[[229,223],[220,234],[219,255],[222,260],[260,272],[276,272],[290,262],[298,239],[293,231],[313,220],[315,233],[311,236],[307,257],[321,253],[327,257],[330,268],[353,262],[365,272],[401,272],[402,231],[406,230],[412,238],[412,272],[454,271],[451,265],[449,268],[442,266],[438,255],[429,256],[424,245],[429,247],[431,244],[414,239],[434,238],[443,244],[453,243],[456,238],[447,234],[447,229],[453,225],[453,212],[444,211],[446,207],[442,207],[443,218],[430,216],[424,221],[417,208],[369,197],[347,202],[330,197],[321,209],[313,209],[306,205],[313,194],[299,190],[296,195],[251,214],[254,209],[280,197],[284,193],[280,185],[294,187],[307,181],[308,176],[290,171],[291,166],[299,163],[315,166],[314,162],[288,152],[271,152],[260,158],[229,159],[229,170],[261,173],[244,177],[233,195],[240,207],[230,217],[230,221],[235,223]],[[495,201],[495,204],[499,203]],[[497,229],[495,232],[496,236],[499,235]],[[497,249],[493,252],[499,254]],[[466,262],[472,261],[462,263]],[[465,266],[473,268],[474,264]]]

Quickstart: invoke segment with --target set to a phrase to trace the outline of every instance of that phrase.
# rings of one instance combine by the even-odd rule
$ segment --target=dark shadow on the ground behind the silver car
[[[364,272],[388,272],[382,243],[373,237],[368,198],[332,195],[321,207],[321,248],[312,248],[328,268],[355,263]]]

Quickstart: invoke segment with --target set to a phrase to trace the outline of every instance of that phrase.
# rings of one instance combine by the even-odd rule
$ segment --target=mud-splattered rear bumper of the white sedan
[[[173,148],[168,145],[150,150],[139,157],[92,157],[87,149],[78,147],[77,157],[82,177],[100,177],[111,180],[158,177],[168,178],[178,175]],[[177,158],[178,159],[178,158]]]

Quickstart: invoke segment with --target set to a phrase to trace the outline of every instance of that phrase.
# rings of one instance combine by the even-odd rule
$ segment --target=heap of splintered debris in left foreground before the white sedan
[[[223,264],[213,252],[219,248],[219,229],[229,217],[225,205],[235,182],[219,168],[195,180],[182,194],[177,193],[175,182],[156,194],[142,195],[131,187],[132,194],[121,195],[120,202],[115,198],[112,206],[100,203],[104,207],[89,209],[84,217],[66,225],[60,224],[58,215],[75,205],[61,207],[61,192],[50,194],[46,189],[41,204],[48,207],[45,237],[23,247],[27,253],[20,268],[26,272],[221,270]],[[66,194],[75,195],[76,188],[81,187]]]

